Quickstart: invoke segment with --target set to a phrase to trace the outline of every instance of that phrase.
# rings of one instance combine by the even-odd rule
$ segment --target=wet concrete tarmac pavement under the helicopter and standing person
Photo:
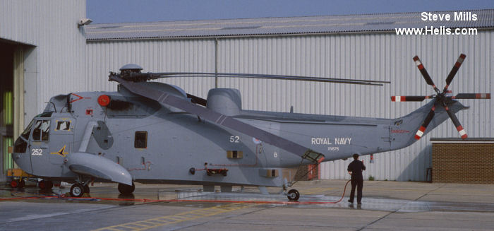
[[[95,183],[91,198],[71,199],[56,197],[70,186],[46,193],[5,185],[0,230],[494,230],[493,184],[365,181],[361,206],[347,202],[349,189],[342,202],[330,203],[341,198],[345,183],[299,182],[298,203],[288,203],[277,188],[262,195],[255,187],[210,193],[136,184],[128,197],[116,184]]]

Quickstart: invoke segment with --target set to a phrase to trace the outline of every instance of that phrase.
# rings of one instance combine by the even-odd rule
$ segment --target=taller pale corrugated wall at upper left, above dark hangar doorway
[[[28,110],[28,122],[53,95],[83,89],[86,49],[84,29],[77,27],[80,18],[85,18],[85,1],[0,1],[0,38],[25,44],[26,84],[37,85],[37,99],[25,100],[26,108],[36,108]]]

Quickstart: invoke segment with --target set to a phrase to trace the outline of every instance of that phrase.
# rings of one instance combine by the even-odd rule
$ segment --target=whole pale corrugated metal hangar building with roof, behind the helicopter
[[[390,81],[383,86],[228,78],[165,82],[200,97],[210,88],[238,88],[243,109],[289,112],[293,106],[298,113],[396,118],[425,102],[391,102],[391,95],[433,94],[412,57],[421,57],[441,88],[464,53],[466,60],[450,89],[454,94],[493,93],[494,10],[469,12],[478,20],[429,22],[421,20],[420,13],[387,13],[78,26],[85,18],[84,1],[0,1],[0,47],[7,51],[0,57],[2,170],[11,167],[6,147],[50,96],[116,90],[116,83],[107,81],[108,72],[128,63],[144,71]],[[475,28],[476,35],[397,35],[394,30],[426,26]],[[469,137],[493,137],[494,100],[462,103],[471,106],[457,114]],[[425,180],[431,165],[429,138],[458,136],[448,121],[408,148],[373,155],[373,163],[367,155],[364,177]],[[349,162],[323,163],[321,178],[348,179]]]

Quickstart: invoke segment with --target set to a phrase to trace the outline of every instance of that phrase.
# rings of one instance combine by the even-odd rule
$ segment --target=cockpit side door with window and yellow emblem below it
[[[76,119],[56,117],[52,119],[52,124],[49,160],[54,165],[62,165],[64,158],[73,151],[73,130]]]

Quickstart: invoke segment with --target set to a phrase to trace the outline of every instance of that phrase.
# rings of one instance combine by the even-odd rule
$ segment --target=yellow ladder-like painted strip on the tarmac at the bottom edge
[[[220,213],[227,213],[230,211],[236,211],[242,208],[248,208],[255,206],[254,204],[248,203],[231,203],[224,206],[215,206],[212,208],[201,208],[195,211],[188,211],[183,213],[178,213],[175,215],[165,215],[159,218],[151,218],[147,220],[140,220],[133,223],[124,223],[121,225],[113,225],[109,227],[102,227],[93,231],[100,230],[149,230],[154,227],[159,227],[163,225],[170,225],[175,223],[181,223],[187,220],[195,220],[198,218],[206,218]]]

